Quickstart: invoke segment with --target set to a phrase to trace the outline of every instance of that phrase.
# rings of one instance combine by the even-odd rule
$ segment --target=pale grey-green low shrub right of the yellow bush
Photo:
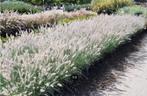
[[[132,14],[132,15],[147,16],[147,8],[146,7],[142,7],[140,5],[124,7],[124,8],[120,8],[117,11],[117,14]]]

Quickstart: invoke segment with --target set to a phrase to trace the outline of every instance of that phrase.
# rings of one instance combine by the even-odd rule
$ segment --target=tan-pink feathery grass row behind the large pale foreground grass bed
[[[94,16],[91,11],[63,12],[59,10],[45,11],[36,14],[17,14],[15,12],[0,13],[0,35],[16,35],[19,30],[38,28],[41,25],[52,26],[64,19],[79,19]],[[64,23],[64,22],[62,22]]]

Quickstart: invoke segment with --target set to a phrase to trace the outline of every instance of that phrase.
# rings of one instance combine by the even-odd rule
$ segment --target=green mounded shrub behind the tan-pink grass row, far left
[[[33,5],[24,3],[22,1],[5,1],[0,3],[0,6],[1,12],[12,10],[17,11],[18,13],[36,13],[42,10],[39,7],[34,7]]]

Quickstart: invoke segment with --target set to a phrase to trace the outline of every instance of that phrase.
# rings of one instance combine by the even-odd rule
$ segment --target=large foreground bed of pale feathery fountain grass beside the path
[[[77,26],[78,25],[78,26]],[[116,27],[117,26],[117,27]],[[54,95],[73,74],[81,74],[130,35],[143,29],[136,16],[100,15],[89,20],[39,29],[0,43],[0,69],[8,96]]]

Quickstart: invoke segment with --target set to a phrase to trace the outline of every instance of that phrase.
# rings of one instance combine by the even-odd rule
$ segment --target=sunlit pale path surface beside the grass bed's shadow
[[[127,66],[123,73],[112,71],[118,76],[112,87],[116,90],[104,91],[106,96],[147,96],[147,37],[142,40],[141,46],[136,47],[138,51],[130,54],[125,62],[132,66]]]

